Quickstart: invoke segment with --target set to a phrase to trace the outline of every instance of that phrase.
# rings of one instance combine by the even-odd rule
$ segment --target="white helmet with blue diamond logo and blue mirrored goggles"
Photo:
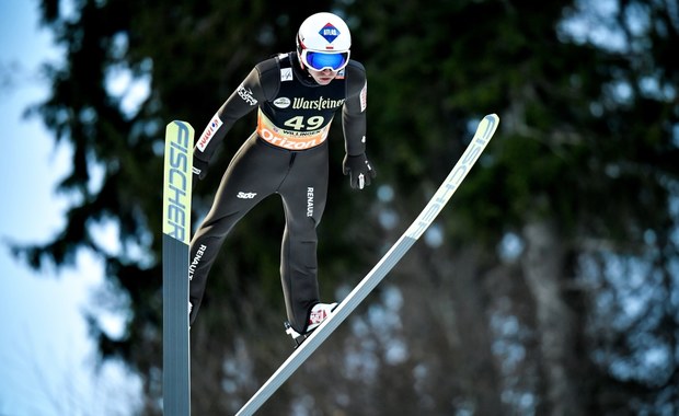
[[[297,32],[297,55],[302,65],[321,71],[338,71],[349,61],[352,33],[333,13],[315,13],[307,18]]]

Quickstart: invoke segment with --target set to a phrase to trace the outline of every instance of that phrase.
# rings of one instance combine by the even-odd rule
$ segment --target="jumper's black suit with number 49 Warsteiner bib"
[[[241,146],[221,180],[212,206],[191,242],[191,323],[207,276],[229,231],[254,206],[280,195],[285,212],[280,278],[288,320],[303,332],[319,303],[317,230],[327,195],[327,134],[342,109],[345,150],[365,152],[367,82],[350,60],[327,85],[319,85],[283,54],[254,67],[223,103],[196,142],[194,157],[209,162],[233,124],[257,108],[256,130]]]

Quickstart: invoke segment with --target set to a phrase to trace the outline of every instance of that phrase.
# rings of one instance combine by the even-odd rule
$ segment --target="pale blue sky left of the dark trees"
[[[23,117],[47,96],[41,63],[59,60],[38,26],[37,1],[0,3],[0,415],[125,415],[138,381],[116,365],[94,374],[83,320],[85,311],[101,314],[93,302],[106,296],[101,263],[83,252],[76,267],[33,271],[8,249],[8,241],[47,241],[62,227],[68,200],[55,184],[70,169],[70,149],[56,147],[38,118]]]

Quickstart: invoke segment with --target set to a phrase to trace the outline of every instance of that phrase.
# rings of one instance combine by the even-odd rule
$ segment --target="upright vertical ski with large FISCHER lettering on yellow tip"
[[[191,415],[188,243],[194,129],[165,128],[163,177],[163,414]]]

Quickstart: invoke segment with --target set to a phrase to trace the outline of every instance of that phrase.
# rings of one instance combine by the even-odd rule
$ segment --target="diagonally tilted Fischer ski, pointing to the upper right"
[[[313,351],[332,334],[337,326],[366,299],[384,276],[396,265],[411,246],[429,228],[434,219],[444,209],[452,194],[458,189],[471,167],[474,165],[486,145],[497,129],[499,117],[490,114],[481,120],[476,132],[464,153],[452,167],[441,186],[434,194],[422,213],[401,235],[394,245],[384,254],[379,263],[364,277],[356,288],[340,303],[333,314],[325,320],[307,339],[290,355],[278,370],[237,413],[237,416],[254,414],[278,388],[304,362]]]

